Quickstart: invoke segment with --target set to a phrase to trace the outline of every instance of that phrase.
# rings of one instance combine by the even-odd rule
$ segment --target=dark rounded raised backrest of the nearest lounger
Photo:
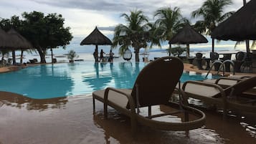
[[[136,104],[138,99],[138,107],[168,103],[183,69],[183,63],[176,57],[161,57],[146,65],[139,73],[131,94]]]

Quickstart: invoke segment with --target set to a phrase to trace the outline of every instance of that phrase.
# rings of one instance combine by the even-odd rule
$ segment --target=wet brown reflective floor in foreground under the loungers
[[[132,137],[130,120],[109,108],[103,118],[103,104],[92,97],[60,97],[32,100],[0,97],[0,143],[256,143],[256,122],[237,117],[222,119],[206,111],[203,128],[190,131],[154,130],[143,125]],[[155,107],[163,110],[165,107]]]

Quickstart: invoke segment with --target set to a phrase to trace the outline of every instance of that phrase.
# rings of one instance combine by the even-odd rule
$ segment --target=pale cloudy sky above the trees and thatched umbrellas
[[[125,24],[120,14],[141,9],[153,19],[153,11],[164,6],[178,6],[182,15],[190,19],[191,11],[202,6],[204,0],[0,0],[0,17],[9,19],[21,16],[24,11],[42,11],[44,14],[57,13],[65,18],[65,27],[71,27],[72,35],[85,37],[98,26],[104,34],[117,24]],[[236,11],[242,0],[232,0],[225,11]],[[247,0],[249,1],[249,0]],[[113,33],[113,32],[112,32]]]

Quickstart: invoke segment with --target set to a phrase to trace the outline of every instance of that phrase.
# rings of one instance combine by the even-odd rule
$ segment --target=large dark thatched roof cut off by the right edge
[[[256,40],[256,1],[251,0],[223,21],[211,34],[221,40]],[[247,52],[250,49],[247,49]]]

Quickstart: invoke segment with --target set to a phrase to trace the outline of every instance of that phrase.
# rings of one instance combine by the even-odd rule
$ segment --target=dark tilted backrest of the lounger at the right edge
[[[242,92],[250,90],[253,87],[256,87],[256,77],[250,77],[246,80],[238,82],[236,85],[231,86],[231,93],[229,96],[234,97],[237,95],[241,95]]]

